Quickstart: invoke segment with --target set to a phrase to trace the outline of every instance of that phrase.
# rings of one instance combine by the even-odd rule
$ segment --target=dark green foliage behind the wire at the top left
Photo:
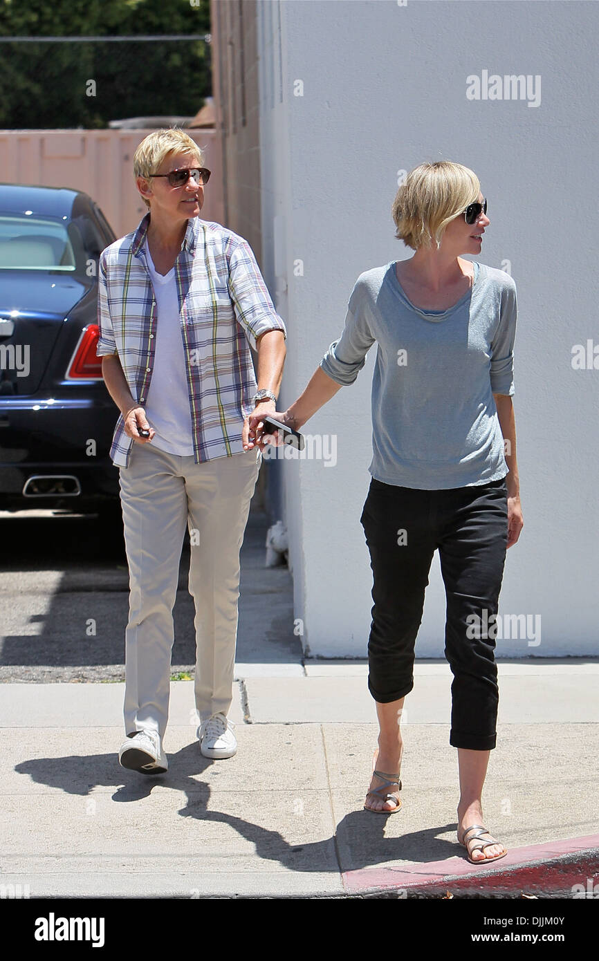
[[[209,33],[208,0],[199,7],[189,0],[0,0],[0,37],[39,37],[0,42],[0,127],[97,128],[130,116],[193,116],[211,94],[203,40],[42,37]]]

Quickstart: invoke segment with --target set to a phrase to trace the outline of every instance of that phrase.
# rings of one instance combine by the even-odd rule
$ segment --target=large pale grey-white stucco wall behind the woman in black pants
[[[586,2],[259,4],[263,259],[289,332],[279,407],[340,333],[358,275],[411,256],[393,237],[398,172],[458,160],[487,195],[478,259],[512,273],[519,308],[525,529],[508,554],[500,613],[528,615],[532,628],[499,640],[500,655],[599,653],[599,369],[572,367],[574,345],[599,345],[598,25],[599,5]],[[529,76],[537,105],[467,98],[469,76],[494,74]],[[371,572],[360,514],[374,354],[304,428],[336,435],[336,466],[282,465],[295,616],[312,656],[365,654]],[[442,656],[443,626],[436,558],[419,656]]]

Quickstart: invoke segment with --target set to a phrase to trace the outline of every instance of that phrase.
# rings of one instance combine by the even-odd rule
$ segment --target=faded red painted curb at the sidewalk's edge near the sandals
[[[589,834],[583,838],[568,838],[559,841],[546,841],[543,844],[509,850],[495,864],[475,868],[465,857],[448,857],[443,861],[414,862],[403,864],[400,868],[362,868],[359,871],[343,872],[343,886],[348,893],[365,891],[372,888],[423,888],[445,884],[449,880],[461,879],[471,882],[476,878],[493,877],[503,880],[504,875],[513,879],[514,871],[556,861],[568,855],[596,851],[599,856],[599,834]]]

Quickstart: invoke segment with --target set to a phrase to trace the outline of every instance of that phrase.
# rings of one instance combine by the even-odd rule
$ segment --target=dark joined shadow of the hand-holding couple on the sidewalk
[[[211,785],[203,781],[201,776],[213,764],[223,763],[227,762],[204,757],[195,742],[179,752],[169,753],[168,772],[158,776],[139,775],[120,768],[113,753],[40,757],[22,761],[15,765],[14,770],[31,777],[38,784],[81,797],[86,797],[96,787],[114,787],[112,801],[117,803],[140,801],[149,797],[153,788],[159,785],[181,791],[187,796],[186,806],[178,812],[181,817],[230,825],[241,837],[255,845],[260,858],[276,861],[291,871],[338,873],[339,870],[356,871],[382,862],[437,861],[461,854],[462,849],[458,848],[457,842],[437,837],[437,834],[455,831],[455,822],[412,831],[400,837],[385,837],[387,818],[362,809],[341,818],[332,837],[299,845],[289,844],[280,831],[209,808]],[[281,793],[288,794],[287,790],[284,792],[276,784],[272,786],[272,792],[275,797]],[[240,794],[242,789],[236,793],[237,801]],[[402,813],[391,817],[401,818]]]

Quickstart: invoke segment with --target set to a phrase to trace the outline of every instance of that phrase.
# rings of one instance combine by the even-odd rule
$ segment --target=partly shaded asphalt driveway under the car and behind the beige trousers
[[[252,511],[241,552],[237,661],[299,662],[287,567],[263,567],[266,518]],[[122,524],[47,511],[0,514],[0,683],[124,679],[129,574]],[[188,544],[174,608],[172,673],[195,661]],[[244,603],[275,605],[267,636]],[[254,604],[253,610],[255,611]]]

